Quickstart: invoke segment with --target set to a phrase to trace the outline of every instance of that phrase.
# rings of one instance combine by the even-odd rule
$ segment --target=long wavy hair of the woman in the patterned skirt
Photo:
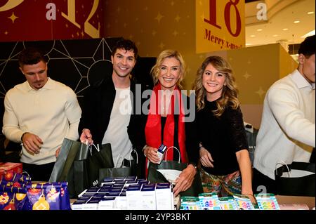
[[[226,86],[223,86],[222,95],[216,100],[217,110],[213,111],[216,117],[220,117],[225,111],[225,107],[228,105],[232,107],[232,109],[237,109],[237,107],[239,107],[237,85],[235,83],[235,78],[232,76],[232,67],[230,67],[230,64],[226,60],[219,56],[210,56],[206,58],[197,70],[197,77],[195,78],[193,87],[196,94],[197,110],[202,110],[205,106],[204,99],[206,97],[206,90],[202,80],[204,71],[209,64],[213,65],[219,72],[225,74]]]

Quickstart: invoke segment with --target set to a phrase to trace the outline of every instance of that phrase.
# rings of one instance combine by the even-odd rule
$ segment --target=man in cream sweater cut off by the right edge
[[[276,81],[265,95],[254,152],[254,192],[264,186],[275,193],[275,167],[309,162],[313,147],[315,35],[301,43],[297,70]]]

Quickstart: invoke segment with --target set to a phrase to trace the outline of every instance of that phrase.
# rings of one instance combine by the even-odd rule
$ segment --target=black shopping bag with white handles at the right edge
[[[281,163],[275,169],[277,195],[315,197],[315,164],[305,162]]]

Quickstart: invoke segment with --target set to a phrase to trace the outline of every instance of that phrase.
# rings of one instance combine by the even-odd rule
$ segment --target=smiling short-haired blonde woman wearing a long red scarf
[[[151,74],[154,88],[150,95],[149,111],[146,116],[130,124],[129,133],[133,136],[132,141],[137,141],[136,145],[143,148],[145,164],[149,162],[159,164],[157,149],[162,143],[167,148],[175,146],[180,151],[181,162],[189,165],[180,173],[173,187],[174,194],[178,195],[192,185],[197,173],[195,164],[198,161],[198,158],[192,159],[190,152],[187,151],[187,149],[197,149],[198,143],[195,147],[190,147],[190,141],[185,139],[185,136],[190,136],[187,131],[193,130],[189,127],[190,122],[185,122],[187,116],[184,111],[187,108],[185,103],[189,100],[180,91],[180,82],[185,76],[185,61],[178,51],[162,51],[152,67]],[[176,150],[169,150],[166,159],[178,161]]]

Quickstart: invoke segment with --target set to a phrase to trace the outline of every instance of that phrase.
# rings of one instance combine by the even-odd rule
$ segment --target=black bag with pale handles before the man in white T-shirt
[[[132,153],[136,153],[136,157],[132,159]],[[116,165],[121,159],[121,156],[117,157]],[[99,169],[99,182],[102,182],[104,178],[117,178],[117,177],[127,177],[127,176],[137,176],[138,173],[138,154],[136,150],[131,150],[129,159],[123,159],[121,166],[116,166],[113,168],[101,168]]]

